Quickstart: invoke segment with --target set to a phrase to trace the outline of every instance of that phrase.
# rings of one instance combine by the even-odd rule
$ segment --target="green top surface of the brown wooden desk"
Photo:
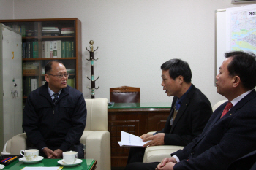
[[[154,102],[154,103],[114,103],[108,109],[141,109],[141,108],[170,108],[170,102]]]

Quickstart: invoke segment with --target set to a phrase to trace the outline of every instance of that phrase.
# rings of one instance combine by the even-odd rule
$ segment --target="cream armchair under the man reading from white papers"
[[[221,104],[223,104],[227,100],[222,100],[217,102],[217,104],[212,107],[213,112],[217,109]],[[154,132],[148,132],[154,133]],[[162,145],[162,146],[153,146],[147,147],[144,153],[143,162],[161,162],[164,158],[170,157],[170,153],[176,152],[177,150],[182,150],[184,147],[181,146],[173,146],[173,145]]]

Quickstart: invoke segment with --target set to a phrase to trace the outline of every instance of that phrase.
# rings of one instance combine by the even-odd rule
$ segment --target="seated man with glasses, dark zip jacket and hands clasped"
[[[61,158],[73,150],[84,158],[80,137],[86,126],[83,94],[67,85],[69,73],[61,61],[45,65],[45,85],[29,94],[23,112],[23,129],[45,158]]]

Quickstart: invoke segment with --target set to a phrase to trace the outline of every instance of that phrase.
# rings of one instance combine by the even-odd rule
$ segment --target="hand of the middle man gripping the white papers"
[[[146,138],[143,137],[143,142],[151,140],[150,142],[144,144],[143,147],[164,145],[165,144],[164,139],[165,139],[165,133],[159,133],[155,135],[151,134],[151,136],[148,136]]]

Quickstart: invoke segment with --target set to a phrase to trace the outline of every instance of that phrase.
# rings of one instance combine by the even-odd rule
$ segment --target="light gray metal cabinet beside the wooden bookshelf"
[[[2,93],[2,94],[1,94]],[[0,24],[0,150],[22,133],[22,36]]]

